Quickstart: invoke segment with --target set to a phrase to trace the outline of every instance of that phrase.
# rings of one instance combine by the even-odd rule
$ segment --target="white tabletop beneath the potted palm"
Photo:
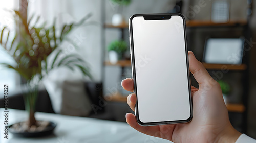
[[[24,121],[27,114],[23,110],[9,110],[9,125]],[[51,113],[37,112],[38,120],[50,120],[57,123],[54,134],[39,138],[20,138],[8,133],[8,139],[3,136],[4,109],[0,108],[0,142],[9,143],[76,143],[76,142],[170,142],[161,138],[142,134],[128,124],[117,121],[97,120],[87,117],[66,116]]]

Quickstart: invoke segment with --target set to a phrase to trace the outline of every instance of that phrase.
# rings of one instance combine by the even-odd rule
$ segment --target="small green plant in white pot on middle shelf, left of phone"
[[[109,60],[112,64],[115,64],[123,56],[123,53],[127,50],[127,44],[124,40],[115,40],[108,46]]]

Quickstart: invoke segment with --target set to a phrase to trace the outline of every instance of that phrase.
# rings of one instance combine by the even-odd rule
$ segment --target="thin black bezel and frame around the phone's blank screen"
[[[180,16],[183,19],[183,28],[184,28],[184,39],[185,39],[185,53],[186,53],[186,66],[187,66],[187,78],[188,78],[188,90],[189,90],[189,104],[190,104],[190,116],[185,120],[175,120],[175,121],[160,121],[160,122],[142,122],[139,118],[139,111],[138,109],[138,98],[137,98],[137,84],[136,84],[136,71],[135,71],[135,58],[134,58],[134,41],[133,41],[133,24],[132,20],[138,16],[153,16],[153,17],[163,17],[163,16]],[[145,19],[146,20],[146,19]],[[166,19],[150,19],[150,20],[166,20]],[[193,116],[193,105],[192,105],[192,98],[191,98],[191,81],[190,81],[190,71],[189,71],[189,63],[188,63],[188,51],[187,51],[187,39],[186,39],[186,22],[185,18],[180,13],[158,13],[158,14],[135,14],[132,15],[129,19],[129,33],[130,33],[130,52],[131,52],[131,61],[132,61],[132,72],[133,72],[133,79],[134,79],[134,93],[136,94],[137,102],[135,105],[135,116],[136,120],[139,125],[141,126],[156,126],[156,125],[165,125],[165,124],[178,124],[178,123],[187,123],[191,121]]]

